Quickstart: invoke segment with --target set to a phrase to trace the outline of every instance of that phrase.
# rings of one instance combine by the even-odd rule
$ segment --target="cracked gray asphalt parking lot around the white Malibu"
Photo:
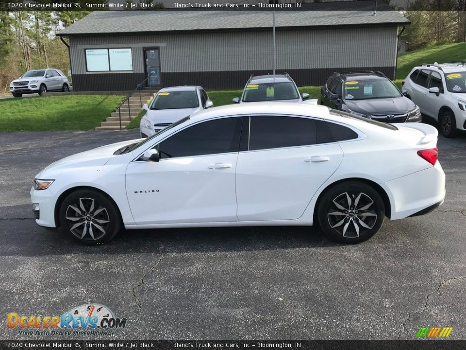
[[[105,338],[413,339],[433,326],[466,338],[466,136],[439,137],[444,205],[385,219],[359,245],[333,243],[317,227],[229,227],[124,231],[89,247],[35,225],[36,173],[137,137],[0,133],[1,339],[47,338],[8,329],[7,313],[62,315],[85,303],[128,319]]]

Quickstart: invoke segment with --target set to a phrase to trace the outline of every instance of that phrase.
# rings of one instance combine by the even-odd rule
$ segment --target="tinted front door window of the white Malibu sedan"
[[[242,118],[222,118],[190,126],[159,143],[161,158],[238,152]]]

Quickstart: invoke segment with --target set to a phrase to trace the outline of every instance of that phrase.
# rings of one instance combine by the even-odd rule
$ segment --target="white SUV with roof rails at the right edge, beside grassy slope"
[[[423,115],[440,123],[443,136],[466,130],[466,62],[423,63],[411,70],[402,88]]]

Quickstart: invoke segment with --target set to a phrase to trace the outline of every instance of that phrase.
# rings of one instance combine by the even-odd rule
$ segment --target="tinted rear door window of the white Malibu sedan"
[[[253,116],[250,119],[251,151],[327,142],[334,140],[322,121],[286,116]]]

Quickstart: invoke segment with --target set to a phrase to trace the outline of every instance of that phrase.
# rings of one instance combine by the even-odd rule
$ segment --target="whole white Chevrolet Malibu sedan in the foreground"
[[[84,244],[122,228],[320,224],[358,243],[445,197],[437,130],[326,106],[210,108],[150,138],[63,158],[34,179],[36,223]]]

